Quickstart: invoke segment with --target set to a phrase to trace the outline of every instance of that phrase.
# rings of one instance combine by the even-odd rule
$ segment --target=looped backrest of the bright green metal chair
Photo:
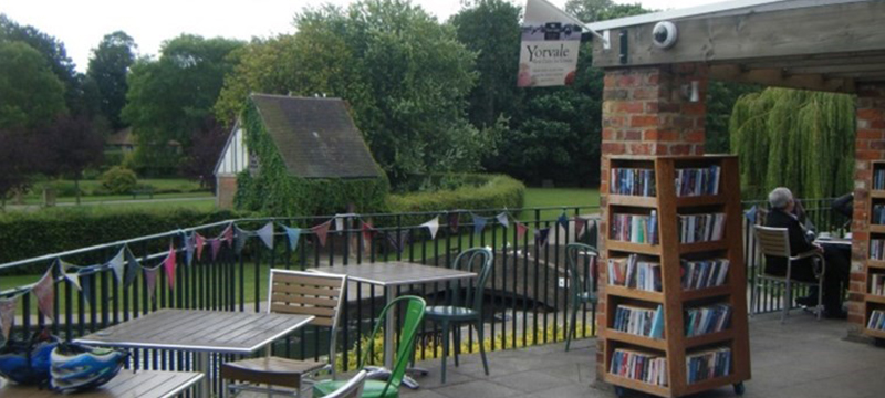
[[[375,327],[372,329],[372,334],[368,335],[368,344],[366,344],[363,358],[360,360],[360,368],[365,368],[366,360],[372,356],[371,354],[375,346],[375,336],[377,336],[378,331],[382,325],[384,325],[384,320],[387,318],[387,312],[392,311],[392,308],[396,307],[400,302],[405,302],[406,308],[405,314],[399,315],[404,321],[403,327],[399,329],[399,345],[396,352],[396,362],[394,363],[394,368],[391,369],[391,378],[387,380],[387,385],[384,386],[384,390],[378,395],[379,397],[386,396],[387,390],[391,388],[399,389],[399,385],[403,383],[403,376],[406,374],[406,366],[408,366],[408,362],[412,359],[412,354],[415,350],[415,337],[418,335],[418,326],[420,326],[421,321],[424,321],[424,310],[427,307],[427,303],[424,298],[404,295],[394,298],[391,303],[385,305],[384,310],[381,311],[381,315],[378,315],[378,318],[375,321]],[[391,332],[388,331],[388,333]]]

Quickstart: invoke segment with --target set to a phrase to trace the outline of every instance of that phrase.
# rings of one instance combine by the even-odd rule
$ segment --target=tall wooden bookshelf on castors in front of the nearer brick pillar
[[[604,344],[604,376],[615,386],[618,396],[626,389],[659,397],[681,397],[700,391],[733,386],[743,392],[743,381],[750,379],[750,352],[747,328],[747,275],[742,259],[740,180],[738,159],[735,156],[613,156],[604,159],[612,178],[613,169],[645,168],[654,170],[656,196],[637,197],[607,195],[606,214],[608,230],[605,241],[605,258],[623,258],[625,254],[652,256],[660,263],[663,292],[647,292],[624,286],[607,285],[603,290],[606,303],[606,322],[600,325]],[[676,196],[678,169],[719,166],[719,186],[716,195]],[[647,213],[654,210],[657,217],[659,241],[631,243],[614,240],[612,222],[621,212]],[[681,243],[678,214],[725,213],[723,239],[697,243]],[[726,282],[720,286],[683,290],[681,260],[728,259]],[[885,264],[885,263],[884,263]],[[618,304],[643,305],[664,310],[664,337],[649,338],[616,331],[615,308]],[[685,311],[690,306],[728,304],[731,306],[730,327],[698,336],[686,336]],[[705,349],[728,347],[731,349],[730,374],[688,384],[687,355]],[[616,349],[650,352],[666,358],[667,386],[653,385],[611,373]]]

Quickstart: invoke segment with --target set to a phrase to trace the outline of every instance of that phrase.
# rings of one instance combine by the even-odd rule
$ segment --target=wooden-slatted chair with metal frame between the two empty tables
[[[312,325],[330,327],[329,362],[273,357],[269,347],[268,356],[264,358],[249,358],[221,365],[222,379],[246,381],[229,385],[228,389],[233,394],[248,390],[298,397],[305,376],[330,368],[334,378],[337,320],[341,313],[341,297],[346,286],[346,275],[271,269],[268,312],[314,315]],[[272,386],[293,388],[294,391]]]

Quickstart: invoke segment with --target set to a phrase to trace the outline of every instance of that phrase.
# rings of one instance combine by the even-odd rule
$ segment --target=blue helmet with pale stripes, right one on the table
[[[51,355],[52,388],[72,392],[98,387],[117,375],[128,356],[119,349],[59,344]]]

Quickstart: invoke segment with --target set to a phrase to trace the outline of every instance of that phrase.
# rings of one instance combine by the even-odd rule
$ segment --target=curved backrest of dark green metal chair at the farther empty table
[[[482,311],[482,298],[486,293],[486,282],[491,275],[491,269],[494,265],[494,256],[490,249],[473,248],[467,249],[459,253],[455,261],[451,262],[452,270],[476,272],[476,280],[458,280],[452,282],[452,291],[449,296],[452,297],[452,305],[461,305],[462,290],[466,290],[465,305],[469,305],[476,312]]]

